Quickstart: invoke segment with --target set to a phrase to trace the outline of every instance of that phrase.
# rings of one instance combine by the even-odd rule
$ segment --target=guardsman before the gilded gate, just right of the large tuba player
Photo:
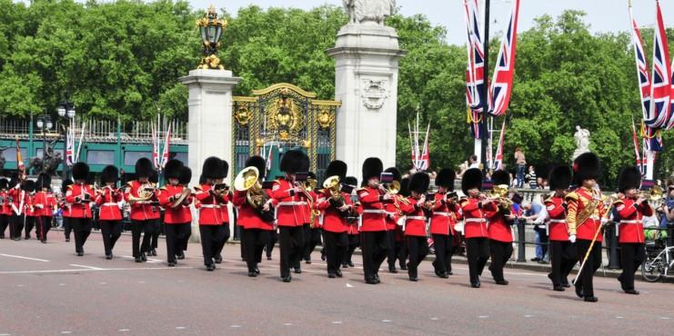
[[[271,196],[277,203],[278,242],[281,248],[281,280],[290,282],[290,267],[297,266],[305,246],[303,224],[307,217],[307,194],[295,181],[297,173],[306,173],[309,169],[307,154],[287,151],[281,157],[280,169],[286,175],[274,182]],[[299,268],[296,273],[301,272]]]

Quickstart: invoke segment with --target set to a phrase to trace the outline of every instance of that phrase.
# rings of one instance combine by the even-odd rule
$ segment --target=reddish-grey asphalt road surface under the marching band
[[[419,282],[382,270],[382,283],[363,282],[360,257],[342,279],[328,279],[319,253],[293,281],[278,280],[278,250],[261,275],[248,278],[237,245],[225,262],[206,272],[198,244],[186,260],[166,267],[166,245],[157,257],[136,263],[131,237],[123,235],[116,258],[104,258],[98,232],[84,257],[62,232],[50,241],[0,241],[0,335],[484,335],[629,334],[674,331],[674,288],[638,282],[639,296],[611,278],[595,278],[598,303],[572,290],[553,292],[546,273],[508,270],[508,286],[488,271],[482,288],[468,285],[466,265],[448,280],[422,262]]]

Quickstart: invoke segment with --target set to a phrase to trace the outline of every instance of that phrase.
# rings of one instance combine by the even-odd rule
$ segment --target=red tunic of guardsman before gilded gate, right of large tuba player
[[[302,226],[309,222],[307,197],[304,193],[295,194],[294,186],[285,178],[274,182],[271,197],[277,203],[278,226]]]

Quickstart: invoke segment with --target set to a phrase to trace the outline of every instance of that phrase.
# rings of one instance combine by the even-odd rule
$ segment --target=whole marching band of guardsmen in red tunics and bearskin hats
[[[196,209],[204,264],[207,271],[223,261],[222,250],[229,238],[229,207],[236,208],[236,225],[242,229],[242,256],[247,274],[257,277],[262,254],[271,247],[278,232],[280,279],[291,282],[291,269],[301,273],[302,259],[321,243],[327,260],[327,277],[341,278],[342,269],[354,267],[352,256],[358,246],[362,251],[365,282],[377,284],[379,268],[387,260],[388,271],[397,272],[397,262],[407,270],[411,282],[417,282],[417,267],[433,244],[435,274],[442,279],[452,275],[451,259],[461,240],[465,241],[471,287],[480,287],[480,276],[489,259],[494,282],[508,285],[503,268],[513,253],[512,226],[520,215],[517,204],[508,197],[509,175],[494,172],[492,190],[483,190],[483,173],[468,169],[461,179],[464,197],[454,192],[456,173],[442,169],[435,179],[436,192],[428,193],[428,173],[414,173],[402,178],[395,167],[383,170],[381,160],[370,157],[362,166],[362,184],[347,176],[347,163],[333,161],[324,172],[322,188],[316,175],[308,172],[307,154],[287,151],[280,162],[285,173],[266,182],[266,160],[251,156],[234,180],[233,190],[224,183],[229,165],[209,157],[203,163],[200,183],[190,189],[191,170],[177,160],[169,160],[164,169],[165,185],[151,182],[156,174],[152,163],[141,158],[136,162],[136,180],[117,187],[119,172],[109,165],[100,176],[100,187],[90,184],[89,167],[75,163],[74,181],[62,184],[64,197],[58,202],[50,190],[46,174],[36,182],[14,174],[10,181],[0,179],[0,239],[30,239],[35,233],[46,242],[52,217],[60,209],[66,242],[70,229],[75,235],[75,253],[83,256],[86,239],[92,230],[92,203],[98,209],[98,223],[103,236],[106,259],[113,259],[115,244],[123,231],[123,214],[130,207],[133,257],[146,262],[154,248],[151,238],[163,221],[169,267],[185,259],[187,242]],[[639,193],[641,175],[637,167],[619,174],[619,193],[604,196],[597,185],[599,158],[583,153],[573,168],[555,167],[549,174],[549,196],[545,199],[550,238],[552,290],[564,292],[572,284],[579,298],[598,301],[593,289],[593,275],[601,265],[603,230],[609,214],[619,222],[619,244],[623,272],[619,276],[622,290],[639,294],[634,273],[644,259],[643,217],[653,214],[649,195]],[[576,187],[571,187],[574,184]],[[163,215],[162,215],[163,213]],[[143,235],[141,243],[141,235]],[[576,279],[569,274],[579,264]]]

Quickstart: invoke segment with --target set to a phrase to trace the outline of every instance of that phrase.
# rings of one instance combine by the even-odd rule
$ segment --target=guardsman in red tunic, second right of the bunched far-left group
[[[103,236],[103,247],[106,259],[113,259],[115,243],[122,235],[122,211],[124,192],[117,189],[119,171],[114,165],[108,165],[101,172],[101,185],[96,191],[96,204],[98,205],[98,224]]]

